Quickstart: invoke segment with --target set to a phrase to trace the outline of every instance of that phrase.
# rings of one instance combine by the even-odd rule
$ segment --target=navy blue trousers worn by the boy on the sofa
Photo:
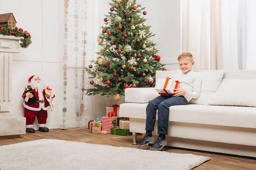
[[[146,129],[154,130],[154,124],[156,121],[156,112],[158,114],[157,121],[157,134],[167,134],[168,133],[168,122],[169,122],[169,107],[175,105],[187,105],[188,101],[184,96],[172,97],[167,95],[162,95],[154,98],[148,102],[146,108],[147,118],[146,118]]]

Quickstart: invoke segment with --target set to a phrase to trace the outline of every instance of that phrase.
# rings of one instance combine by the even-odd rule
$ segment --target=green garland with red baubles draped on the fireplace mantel
[[[27,31],[23,31],[22,28],[9,28],[8,25],[0,26],[0,35],[13,35],[15,37],[24,37],[20,39],[21,48],[27,48],[32,43],[30,34]]]

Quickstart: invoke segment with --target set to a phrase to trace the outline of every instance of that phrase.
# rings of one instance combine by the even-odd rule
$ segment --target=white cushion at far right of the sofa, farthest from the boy
[[[256,107],[256,79],[223,79],[207,105]]]

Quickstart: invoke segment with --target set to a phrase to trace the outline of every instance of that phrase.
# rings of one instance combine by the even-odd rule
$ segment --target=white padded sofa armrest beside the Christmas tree
[[[159,96],[154,88],[126,88],[125,89],[125,102],[130,103],[148,103]]]

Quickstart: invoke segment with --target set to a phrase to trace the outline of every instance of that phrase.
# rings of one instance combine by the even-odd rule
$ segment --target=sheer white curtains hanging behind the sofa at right
[[[182,0],[182,51],[195,70],[256,69],[255,0]]]

